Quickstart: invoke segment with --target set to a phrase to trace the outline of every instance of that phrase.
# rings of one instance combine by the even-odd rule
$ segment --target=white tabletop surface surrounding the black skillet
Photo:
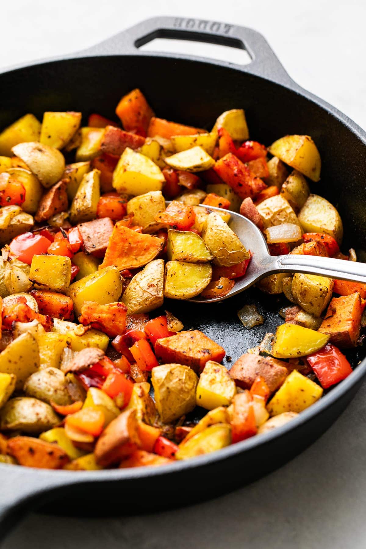
[[[77,51],[153,15],[253,27],[266,36],[294,80],[366,128],[366,3],[361,0],[6,2],[1,10],[0,66]],[[199,44],[195,48],[199,54]],[[126,519],[31,515],[2,547],[364,548],[365,397],[363,386],[316,444],[233,494],[170,513]]]

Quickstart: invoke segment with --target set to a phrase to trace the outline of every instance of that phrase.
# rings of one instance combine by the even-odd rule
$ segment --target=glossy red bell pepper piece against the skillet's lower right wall
[[[331,343],[306,358],[324,389],[339,383],[352,373],[345,355]]]

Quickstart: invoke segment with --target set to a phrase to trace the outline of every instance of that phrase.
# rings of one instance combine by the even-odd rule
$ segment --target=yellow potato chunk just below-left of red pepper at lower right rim
[[[322,394],[322,387],[297,370],[292,370],[268,403],[267,410],[271,416],[283,412],[302,412],[319,400]]]

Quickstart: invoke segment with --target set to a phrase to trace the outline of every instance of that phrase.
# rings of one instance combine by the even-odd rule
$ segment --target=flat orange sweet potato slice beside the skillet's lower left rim
[[[31,436],[14,436],[9,439],[8,453],[20,465],[38,469],[61,469],[70,461],[67,453],[57,444]]]

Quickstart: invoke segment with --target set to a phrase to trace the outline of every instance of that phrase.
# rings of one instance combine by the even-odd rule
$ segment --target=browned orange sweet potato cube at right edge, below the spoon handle
[[[355,347],[365,304],[358,292],[331,299],[318,332],[329,335],[329,342],[337,347]]]

